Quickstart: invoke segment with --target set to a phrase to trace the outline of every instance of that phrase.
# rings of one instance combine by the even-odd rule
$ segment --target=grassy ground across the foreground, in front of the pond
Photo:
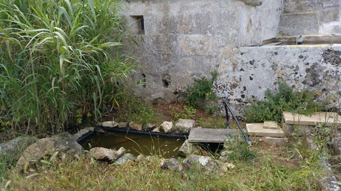
[[[243,144],[243,143],[241,143]],[[304,144],[269,146],[255,142],[248,160],[231,157],[234,169],[206,175],[160,168],[160,158],[129,162],[124,167],[90,158],[41,163],[25,174],[10,173],[7,191],[318,191],[322,176],[321,151],[309,152]],[[240,146],[240,145],[239,145]],[[241,148],[236,146],[235,148]],[[234,149],[234,148],[230,148]],[[216,161],[219,161],[217,157]],[[181,160],[179,158],[179,160]]]

